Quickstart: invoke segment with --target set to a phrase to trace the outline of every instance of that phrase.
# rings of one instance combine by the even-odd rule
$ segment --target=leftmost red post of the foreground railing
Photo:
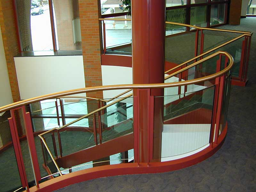
[[[25,171],[25,165],[24,165],[24,161],[23,161],[23,157],[22,157],[21,148],[20,148],[19,135],[18,135],[18,132],[17,132],[14,110],[16,110],[16,109],[11,109],[10,110],[11,117],[8,118],[9,125],[10,125],[10,130],[11,130],[11,135],[12,135],[12,143],[13,143],[13,148],[14,148],[14,152],[15,152],[15,156],[16,156],[16,161],[17,161],[17,165],[18,165],[18,169],[19,169],[19,173],[20,173],[21,185],[22,185],[23,188],[26,187],[29,191],[28,180],[27,180],[26,171]]]

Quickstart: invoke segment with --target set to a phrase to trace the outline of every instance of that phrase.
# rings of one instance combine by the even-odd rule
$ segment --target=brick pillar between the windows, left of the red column
[[[99,1],[100,2],[100,1]],[[100,58],[100,26],[98,0],[79,0],[79,14],[81,24],[82,36],[82,50],[84,60],[84,77],[85,86],[93,87],[102,85],[101,75],[101,58]],[[100,6],[99,6],[100,7]],[[89,92],[87,97],[94,97],[98,99],[103,98],[103,92]],[[96,102],[88,102],[88,113],[97,109]],[[96,116],[98,119],[98,116]],[[89,126],[92,126],[92,118],[89,118]],[[108,161],[109,157],[95,160],[93,162]],[[100,163],[100,165],[109,164],[109,162]],[[93,166],[98,166],[94,164]]]

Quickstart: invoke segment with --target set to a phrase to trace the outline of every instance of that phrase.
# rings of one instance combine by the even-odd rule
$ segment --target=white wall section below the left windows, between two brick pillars
[[[83,56],[15,57],[22,100],[85,87]]]

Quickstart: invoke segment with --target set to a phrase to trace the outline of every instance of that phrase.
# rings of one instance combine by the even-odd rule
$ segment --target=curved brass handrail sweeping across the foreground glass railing
[[[219,53],[226,55],[229,58],[229,60],[232,61],[231,63],[233,65],[233,58],[229,53],[222,52],[222,51],[220,51]],[[204,59],[207,60],[207,58],[209,58],[209,57],[211,57],[211,55],[205,57]],[[230,65],[231,65],[231,63],[230,63]],[[160,89],[160,88],[165,88],[165,87],[175,87],[175,86],[183,86],[183,85],[188,85],[188,84],[200,83],[200,82],[203,82],[203,81],[206,81],[206,80],[209,80],[209,79],[213,79],[217,76],[221,76],[222,74],[228,72],[228,70],[230,70],[230,68],[232,67],[232,65],[231,66],[230,65],[227,68],[223,69],[222,71],[220,71],[218,73],[212,74],[210,76],[205,76],[205,77],[193,79],[193,80],[188,80],[188,81],[172,82],[172,83],[160,83],[160,84],[104,85],[104,86],[87,87],[87,88],[85,87],[85,88],[79,88],[79,89],[72,89],[72,90],[68,90],[68,91],[55,92],[55,93],[51,93],[51,94],[41,95],[41,96],[38,96],[38,97],[18,101],[18,102],[0,107],[0,113],[2,113],[4,111],[11,110],[13,108],[21,107],[23,105],[28,105],[30,103],[35,103],[35,102],[42,101],[42,100],[47,100],[47,99],[55,99],[56,97],[62,97],[62,96],[84,93],[84,92],[95,92],[95,91],[105,91],[105,90],[115,90],[115,89],[149,89],[149,88]]]

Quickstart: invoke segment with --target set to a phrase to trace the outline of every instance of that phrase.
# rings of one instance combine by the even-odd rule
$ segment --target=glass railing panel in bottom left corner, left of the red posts
[[[16,161],[13,145],[8,147],[10,142],[12,143],[12,136],[8,118],[10,112],[6,111],[0,116],[0,148],[6,147],[6,150],[1,150],[0,162],[1,162],[1,180],[0,189],[1,191],[15,191],[21,187],[20,174]]]

